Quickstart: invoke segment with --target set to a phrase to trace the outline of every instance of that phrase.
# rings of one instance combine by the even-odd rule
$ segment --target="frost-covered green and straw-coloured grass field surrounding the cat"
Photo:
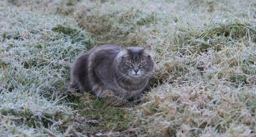
[[[0,136],[254,136],[255,42],[254,0],[2,0]],[[107,43],[153,47],[139,104],[69,88]]]

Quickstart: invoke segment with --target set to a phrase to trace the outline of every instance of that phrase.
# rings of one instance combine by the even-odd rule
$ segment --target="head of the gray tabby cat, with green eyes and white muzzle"
[[[151,46],[120,47],[117,55],[117,68],[123,75],[130,79],[151,77],[154,70],[154,61],[151,55]]]

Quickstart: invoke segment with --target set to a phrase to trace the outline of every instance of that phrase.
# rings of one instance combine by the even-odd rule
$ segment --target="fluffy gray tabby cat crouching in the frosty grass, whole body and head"
[[[126,100],[139,100],[154,72],[151,46],[103,45],[76,58],[71,67],[71,87],[91,91],[101,98],[105,90]]]

